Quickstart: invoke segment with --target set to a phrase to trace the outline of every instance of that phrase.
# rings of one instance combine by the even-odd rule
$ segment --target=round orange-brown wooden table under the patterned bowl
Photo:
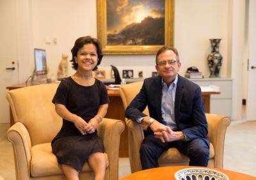
[[[172,180],[175,179],[174,174],[180,169],[185,168],[192,168],[191,166],[170,166],[170,167],[157,167],[154,169],[147,169],[147,170],[141,170],[139,172],[134,172],[128,176],[125,176],[124,178],[120,180]],[[205,167],[203,167],[205,168]],[[218,170],[220,172],[223,172],[224,174],[227,174],[230,180],[251,180],[256,179],[256,177],[249,176],[247,174],[243,174],[240,172],[234,172],[232,170],[225,170],[225,169],[218,169],[218,168],[209,168]]]

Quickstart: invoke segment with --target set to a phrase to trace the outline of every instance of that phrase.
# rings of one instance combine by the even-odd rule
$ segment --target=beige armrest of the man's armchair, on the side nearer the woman
[[[131,119],[125,121],[128,127],[128,140],[129,140],[129,160],[131,164],[131,172],[137,172],[141,170],[140,162],[140,146],[144,139],[143,128],[137,122]]]

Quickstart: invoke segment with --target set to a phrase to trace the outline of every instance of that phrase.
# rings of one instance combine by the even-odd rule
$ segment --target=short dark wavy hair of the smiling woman
[[[81,49],[86,44],[93,44],[93,45],[96,46],[97,56],[98,56],[98,63],[97,63],[97,66],[95,66],[95,68],[93,68],[93,71],[98,70],[98,66],[99,66],[99,64],[101,62],[101,59],[103,57],[102,47],[101,47],[100,41],[97,40],[96,38],[92,38],[91,36],[84,36],[84,37],[78,38],[75,41],[74,47],[71,49],[72,59],[70,60],[70,62],[72,62],[72,68],[74,70],[77,70],[78,65],[75,61],[75,56],[77,56],[78,50]]]

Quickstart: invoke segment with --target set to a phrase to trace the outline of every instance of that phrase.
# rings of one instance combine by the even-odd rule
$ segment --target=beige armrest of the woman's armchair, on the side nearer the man
[[[116,119],[103,118],[97,127],[109,160],[109,179],[118,179],[118,157],[120,135],[124,131],[124,122]],[[108,176],[106,174],[106,176]]]

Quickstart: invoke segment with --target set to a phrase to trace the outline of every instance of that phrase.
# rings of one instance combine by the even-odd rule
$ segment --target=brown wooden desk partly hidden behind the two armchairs
[[[30,86],[30,85],[28,85]],[[15,84],[13,86],[8,86],[6,89],[18,89],[21,87],[26,87],[25,83],[22,84]],[[210,112],[210,96],[211,94],[220,94],[220,92],[202,92],[202,99],[204,101],[205,112]],[[109,96],[109,107],[108,112],[105,117],[112,118],[112,119],[120,119],[125,123],[125,115],[124,115],[124,105],[120,98],[118,91],[116,90],[108,90]],[[14,124],[12,110],[10,109],[10,125]],[[120,140],[120,148],[119,148],[119,156],[120,157],[128,157],[128,130],[125,126],[124,132],[121,134]]]

